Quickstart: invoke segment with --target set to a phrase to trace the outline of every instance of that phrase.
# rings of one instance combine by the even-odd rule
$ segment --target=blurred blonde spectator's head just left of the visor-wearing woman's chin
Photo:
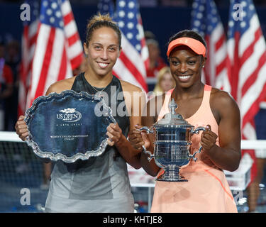
[[[158,72],[157,84],[155,85],[155,89],[153,90],[153,92],[155,92],[155,95],[157,94],[160,95],[174,88],[174,86],[175,82],[174,79],[172,78],[170,67],[168,66],[163,67]]]

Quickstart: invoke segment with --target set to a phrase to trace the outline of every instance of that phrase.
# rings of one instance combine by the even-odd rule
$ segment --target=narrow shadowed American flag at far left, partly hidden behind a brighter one
[[[40,11],[38,1],[28,0],[25,3],[30,6],[31,20],[24,21],[23,23],[23,35],[21,39],[22,61],[18,88],[18,116],[23,115],[26,111],[26,99],[31,79],[31,67],[37,38],[38,16]]]

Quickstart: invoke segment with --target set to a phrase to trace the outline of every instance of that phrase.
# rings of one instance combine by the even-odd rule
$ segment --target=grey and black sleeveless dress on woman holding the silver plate
[[[95,94],[96,90],[79,74],[74,80],[72,90]],[[118,106],[126,105],[121,82],[113,76],[111,83],[103,92],[113,117],[127,137],[129,130],[128,115],[119,116]],[[104,97],[105,99],[106,97]],[[114,105],[116,104],[116,105]],[[116,109],[115,109],[116,108]],[[121,114],[120,114],[121,115]],[[50,189],[45,203],[46,212],[133,212],[134,200],[128,179],[126,161],[119,155],[116,147],[108,146],[99,157],[77,160],[74,163],[55,162],[52,170]]]

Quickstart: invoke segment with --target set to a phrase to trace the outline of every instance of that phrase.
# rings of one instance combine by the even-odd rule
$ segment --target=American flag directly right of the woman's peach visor
[[[213,87],[222,88],[228,70],[226,61],[226,33],[214,0],[194,0],[192,4],[192,30],[199,32],[207,44],[206,65],[202,80]]]

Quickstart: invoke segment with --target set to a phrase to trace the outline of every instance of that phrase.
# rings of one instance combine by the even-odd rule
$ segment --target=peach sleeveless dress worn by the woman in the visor
[[[168,103],[172,91],[173,89],[165,96],[158,121],[169,113]],[[218,135],[218,125],[209,104],[210,94],[211,87],[205,85],[201,106],[186,121],[195,128],[209,124],[211,130]],[[200,138],[201,133],[192,136],[192,153],[199,149]],[[219,145],[218,140],[216,144]],[[152,213],[238,212],[223,170],[216,167],[203,152],[196,154],[196,157],[196,162],[192,159],[187,166],[180,168],[180,175],[188,179],[188,182],[156,182]],[[162,172],[160,170],[158,175]]]

